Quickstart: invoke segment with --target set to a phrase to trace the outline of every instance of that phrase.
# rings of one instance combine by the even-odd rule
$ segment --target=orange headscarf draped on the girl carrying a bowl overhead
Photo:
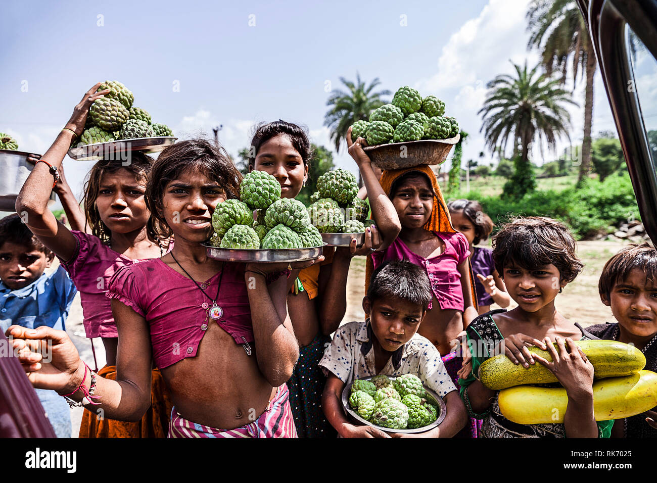
[[[428,176],[431,181],[431,185],[434,189],[434,208],[431,212],[429,221],[424,225],[426,231],[440,231],[443,233],[457,233],[454,227],[451,225],[451,217],[449,216],[449,210],[447,209],[447,203],[445,203],[445,198],[443,198],[443,193],[440,191],[440,186],[438,185],[438,179],[433,170],[426,164],[421,164],[420,166],[413,166],[412,168],[400,168],[399,170],[384,170],[381,173],[381,179],[379,181],[383,191],[390,197],[390,191],[392,190],[392,184],[397,178],[406,173],[417,171],[424,173]],[[472,289],[472,304],[474,308],[477,308],[477,296],[474,288],[474,277],[472,275],[472,264],[468,259],[468,267],[470,267],[470,288]],[[367,256],[367,263],[365,264],[365,293],[367,294],[367,287],[369,287],[369,281],[374,271],[374,265],[372,263],[372,256]]]

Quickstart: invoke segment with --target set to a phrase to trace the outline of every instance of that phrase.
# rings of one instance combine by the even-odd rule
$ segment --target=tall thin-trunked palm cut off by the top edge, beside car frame
[[[527,11],[527,19],[531,34],[528,47],[537,47],[541,51],[541,63],[547,74],[560,70],[561,80],[565,82],[566,71],[571,65],[574,82],[578,73],[586,76],[579,183],[589,174],[591,167],[593,78],[597,68],[593,44],[575,0],[533,0]]]

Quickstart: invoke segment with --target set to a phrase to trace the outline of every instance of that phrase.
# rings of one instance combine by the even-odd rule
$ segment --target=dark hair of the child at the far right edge
[[[657,250],[654,246],[648,242],[623,246],[616,255],[607,260],[598,283],[600,295],[609,298],[614,285],[625,280],[629,272],[634,269],[643,270],[646,283],[648,281],[655,282],[657,279]]]

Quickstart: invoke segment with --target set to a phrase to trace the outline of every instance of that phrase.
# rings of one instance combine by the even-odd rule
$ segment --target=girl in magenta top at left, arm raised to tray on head
[[[72,141],[84,130],[89,106],[108,93],[108,90],[97,92],[99,85],[84,95],[55,143],[35,165],[18,195],[16,211],[25,214],[32,233],[53,250],[76,284],[85,333],[91,339],[100,337],[105,348],[106,365],[99,375],[114,379],[118,331],[110,301],[105,297],[108,281],[120,267],[162,256],[166,243],[152,242],[147,237],[150,213],[144,191],[152,160],[140,152],[132,152],[126,166],[120,160],[108,159],[100,160],[91,168],[83,200],[91,234],[69,230],[58,223],[47,208],[53,187],[66,191],[66,187],[57,182],[58,171]],[[60,198],[70,214],[70,222],[79,227],[81,219],[76,218],[79,208],[74,196],[60,195]],[[141,423],[111,421],[85,411],[80,437],[164,438],[171,402],[160,371],[154,369],[152,378],[153,405]]]

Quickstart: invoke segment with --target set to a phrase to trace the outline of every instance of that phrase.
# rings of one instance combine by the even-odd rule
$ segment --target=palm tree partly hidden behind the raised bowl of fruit
[[[388,90],[373,93],[374,87],[381,83],[378,78],[365,87],[361,76],[356,72],[356,83],[346,80],[340,81],[349,89],[348,92],[333,89],[328,97],[327,106],[331,108],[324,116],[324,126],[330,129],[330,139],[335,143],[336,152],[340,152],[340,143],[346,139],[347,130],[358,120],[369,120],[370,112],[382,106],[381,96],[390,95]]]

